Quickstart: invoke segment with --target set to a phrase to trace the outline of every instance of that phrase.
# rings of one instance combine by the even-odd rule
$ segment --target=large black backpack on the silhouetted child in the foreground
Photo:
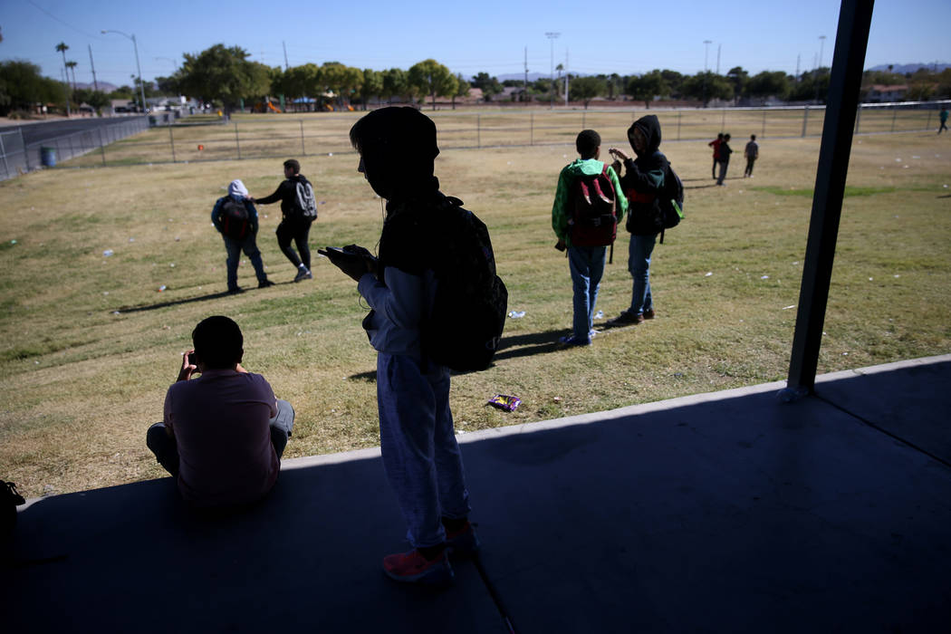
[[[462,201],[441,197],[429,216],[437,291],[423,322],[423,352],[456,372],[485,370],[502,338],[509,292],[495,275],[489,230]]]

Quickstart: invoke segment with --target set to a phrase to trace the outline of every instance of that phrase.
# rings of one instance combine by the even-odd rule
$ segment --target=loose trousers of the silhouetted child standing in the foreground
[[[449,411],[449,370],[412,356],[377,355],[379,449],[413,548],[446,541],[442,518],[469,514],[462,455]]]

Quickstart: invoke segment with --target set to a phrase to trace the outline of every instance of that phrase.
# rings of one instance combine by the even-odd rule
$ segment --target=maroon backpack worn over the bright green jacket
[[[571,186],[571,239],[575,246],[608,246],[617,238],[617,202],[605,164],[600,174],[578,174]]]

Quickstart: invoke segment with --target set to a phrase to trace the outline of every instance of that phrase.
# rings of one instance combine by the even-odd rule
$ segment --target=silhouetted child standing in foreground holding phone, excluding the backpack
[[[377,350],[380,452],[413,547],[384,557],[383,571],[399,582],[441,585],[453,579],[449,553],[478,548],[449,409],[449,370],[421,344],[437,292],[436,245],[446,239],[434,214],[454,202],[433,175],[436,125],[415,108],[375,110],[351,128],[350,140],[358,171],[386,201],[379,258],[355,245],[320,253],[358,282],[373,308],[363,327]]]

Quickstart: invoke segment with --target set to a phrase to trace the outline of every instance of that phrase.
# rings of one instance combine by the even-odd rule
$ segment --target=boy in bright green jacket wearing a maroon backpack
[[[552,227],[559,251],[568,249],[573,286],[572,334],[559,343],[591,345],[594,307],[604,274],[608,245],[624,218],[628,200],[611,165],[598,161],[601,136],[582,130],[574,142],[581,158],[565,165],[558,175],[552,206]]]

